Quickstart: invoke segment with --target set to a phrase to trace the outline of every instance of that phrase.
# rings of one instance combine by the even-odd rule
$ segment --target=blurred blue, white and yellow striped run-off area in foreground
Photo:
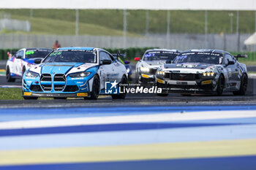
[[[255,169],[255,128],[252,103],[1,108],[0,169]]]

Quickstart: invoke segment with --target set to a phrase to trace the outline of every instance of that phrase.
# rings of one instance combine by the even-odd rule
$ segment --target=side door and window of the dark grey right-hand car
[[[233,61],[233,64],[228,64],[229,61]],[[235,88],[236,83],[238,81],[238,68],[236,66],[235,58],[233,58],[232,55],[226,54],[225,65],[226,65],[227,75],[228,75],[227,87]]]

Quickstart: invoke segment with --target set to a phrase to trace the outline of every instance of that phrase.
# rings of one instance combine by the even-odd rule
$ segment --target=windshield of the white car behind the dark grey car
[[[170,60],[172,61],[178,53],[171,51],[151,51],[144,55],[143,61]]]

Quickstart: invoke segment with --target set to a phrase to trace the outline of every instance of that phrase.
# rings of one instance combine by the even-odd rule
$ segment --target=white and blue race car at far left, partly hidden
[[[26,69],[34,65],[34,59],[45,58],[52,50],[48,48],[23,48],[7,61],[6,78],[7,82],[14,82],[22,78]]]

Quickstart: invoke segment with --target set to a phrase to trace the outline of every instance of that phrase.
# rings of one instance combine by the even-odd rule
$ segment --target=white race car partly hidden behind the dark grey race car
[[[146,50],[143,58],[135,58],[138,61],[135,70],[135,81],[137,83],[155,82],[155,74],[159,66],[164,63],[170,63],[179,54],[178,50],[151,49]]]

